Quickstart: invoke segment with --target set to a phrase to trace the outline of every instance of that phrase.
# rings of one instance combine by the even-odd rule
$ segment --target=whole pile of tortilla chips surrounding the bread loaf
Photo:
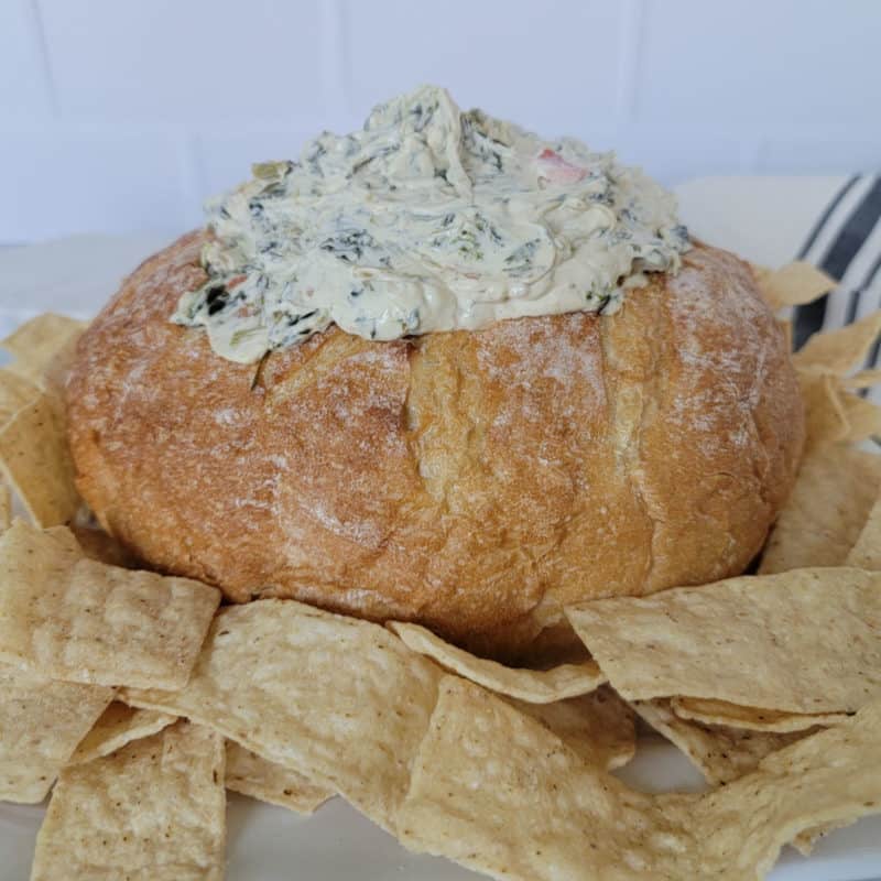
[[[757,276],[775,308],[828,289],[804,264]],[[0,369],[0,798],[51,792],[34,881],[220,879],[227,790],[301,814],[341,796],[522,881],[757,879],[881,813],[881,456],[855,446],[881,435],[861,394],[881,376],[855,372],[881,313],[794,356],[807,450],[759,574],[570,607],[585,656],[536,670],[133,568],[73,482],[81,330],[42,316]],[[706,792],[610,773],[651,729]]]

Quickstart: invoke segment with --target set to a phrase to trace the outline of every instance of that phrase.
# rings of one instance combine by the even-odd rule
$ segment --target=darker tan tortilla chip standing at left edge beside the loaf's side
[[[0,469],[41,526],[68,523],[80,505],[63,403],[42,392],[0,431]]]

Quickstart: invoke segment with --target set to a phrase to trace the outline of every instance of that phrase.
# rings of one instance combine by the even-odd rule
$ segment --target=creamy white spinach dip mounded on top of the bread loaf
[[[241,363],[337,324],[369,339],[616,312],[688,248],[673,196],[423,86],[207,206],[208,282],[172,320]]]

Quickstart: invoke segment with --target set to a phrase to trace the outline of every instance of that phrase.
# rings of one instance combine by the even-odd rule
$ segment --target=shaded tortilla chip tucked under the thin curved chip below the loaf
[[[600,768],[621,768],[637,752],[633,710],[608,685],[589,695],[553,704],[513,699],[510,703],[553,731],[583,759]]]

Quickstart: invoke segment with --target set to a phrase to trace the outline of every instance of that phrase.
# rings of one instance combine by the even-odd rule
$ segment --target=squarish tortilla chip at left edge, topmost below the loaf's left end
[[[69,682],[182,687],[219,591],[85,559],[58,532],[17,520],[0,536],[0,661]]]

